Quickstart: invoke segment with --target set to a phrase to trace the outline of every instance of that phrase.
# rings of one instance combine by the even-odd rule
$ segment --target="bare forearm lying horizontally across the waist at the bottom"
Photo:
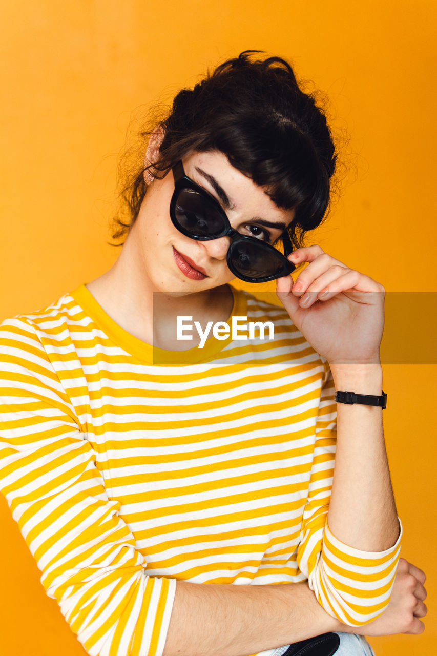
[[[164,656],[246,656],[343,625],[306,583],[176,586]]]

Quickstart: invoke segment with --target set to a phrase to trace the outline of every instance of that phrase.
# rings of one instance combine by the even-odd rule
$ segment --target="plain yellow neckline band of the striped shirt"
[[[229,285],[234,298],[234,305],[230,317],[226,321],[232,328],[233,316],[247,316],[247,297],[244,292],[234,289]],[[77,289],[70,292],[70,296],[77,302],[83,312],[89,316],[96,327],[100,329],[116,346],[128,352],[134,358],[150,365],[190,365],[206,362],[214,358],[232,341],[232,330],[225,340],[210,337],[203,348],[190,348],[185,351],[167,351],[143,342],[140,338],[131,335],[122,328],[109,314],[105,312],[100,304],[91,294],[86,283],[81,283]]]

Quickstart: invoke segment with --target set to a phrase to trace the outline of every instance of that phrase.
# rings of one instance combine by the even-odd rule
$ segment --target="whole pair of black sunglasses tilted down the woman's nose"
[[[287,260],[287,255],[293,252],[287,231],[281,235],[284,256],[257,237],[240,235],[231,228],[215,197],[186,176],[182,161],[173,167],[173,177],[175,191],[170,202],[173,225],[182,234],[198,241],[230,237],[226,261],[234,276],[250,283],[264,283],[295,270],[295,265]]]

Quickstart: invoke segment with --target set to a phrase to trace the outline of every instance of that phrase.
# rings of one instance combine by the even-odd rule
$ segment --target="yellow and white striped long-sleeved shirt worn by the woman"
[[[283,308],[233,293],[273,341],[210,338],[158,365],[85,285],[0,325],[1,490],[92,656],[160,656],[177,580],[308,579],[350,625],[388,604],[400,539],[361,552],[327,527],[327,362]]]

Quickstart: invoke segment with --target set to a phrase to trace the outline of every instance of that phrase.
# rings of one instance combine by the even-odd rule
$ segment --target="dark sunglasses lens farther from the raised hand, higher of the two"
[[[192,189],[180,190],[175,216],[182,230],[193,237],[214,237],[224,229],[223,217],[217,207]]]

